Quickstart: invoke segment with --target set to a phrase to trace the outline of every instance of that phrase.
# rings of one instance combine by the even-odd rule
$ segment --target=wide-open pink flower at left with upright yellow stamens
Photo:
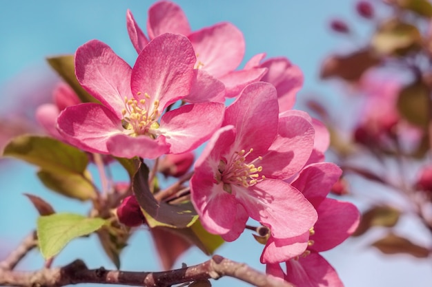
[[[122,158],[195,149],[220,127],[224,105],[184,105],[164,113],[190,92],[195,61],[188,39],[175,34],[153,39],[133,68],[100,41],[82,45],[75,54],[77,79],[102,105],[67,107],[57,120],[61,135],[85,151]]]

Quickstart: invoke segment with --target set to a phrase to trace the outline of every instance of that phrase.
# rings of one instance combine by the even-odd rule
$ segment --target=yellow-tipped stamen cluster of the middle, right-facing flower
[[[224,182],[224,191],[232,193],[230,184],[247,188],[266,178],[265,176],[259,176],[262,167],[255,167],[255,162],[262,160],[262,156],[255,158],[251,162],[246,161],[252,151],[253,149],[249,149],[248,152],[242,149],[233,153],[229,160],[223,158],[219,161],[219,174],[217,174],[216,180],[217,182]]]

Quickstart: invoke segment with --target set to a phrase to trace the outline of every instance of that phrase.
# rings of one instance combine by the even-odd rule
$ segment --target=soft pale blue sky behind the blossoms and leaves
[[[126,31],[126,9],[132,10],[135,19],[145,28],[148,7],[155,1],[3,1],[0,10],[0,94],[4,105],[13,103],[14,95],[40,92],[35,83],[50,70],[46,56],[70,54],[79,45],[99,39],[112,47],[129,63],[135,59],[135,50]],[[328,20],[341,16],[362,21],[353,12],[351,0],[219,0],[175,1],[184,9],[193,30],[230,21],[244,32],[245,60],[266,52],[268,56],[287,56],[299,65],[305,75],[302,93],[329,95],[334,89],[318,80],[319,63],[331,51],[343,51],[350,43],[343,42],[328,30]],[[265,4],[264,4],[265,3]],[[367,34],[367,30],[360,30]],[[30,71],[23,75],[23,71]],[[40,71],[36,72],[35,71]],[[29,75],[31,78],[29,78]],[[19,80],[17,81],[17,77]],[[326,98],[337,105],[334,98]],[[1,109],[0,109],[1,112]],[[14,246],[32,230],[36,212],[21,193],[34,193],[55,205],[57,211],[86,213],[79,202],[65,200],[52,194],[39,184],[35,169],[15,163],[0,169],[0,245]],[[421,228],[406,223],[406,233],[422,234]],[[379,232],[379,231],[377,231]],[[259,264],[262,246],[245,233],[241,240],[226,244],[218,254],[264,270]],[[84,251],[84,254],[78,253]],[[142,231],[132,238],[122,257],[125,270],[157,270],[148,232]],[[72,242],[56,259],[56,264],[66,264],[76,256],[82,257],[90,267],[105,265],[105,255],[95,238]],[[350,240],[325,256],[339,271],[348,287],[355,286],[429,286],[432,281],[432,264],[397,255],[382,257],[369,248],[364,240]],[[188,265],[203,262],[207,257],[193,250],[181,257]],[[33,252],[23,265],[41,266],[41,256]],[[413,283],[415,282],[415,284]],[[237,281],[220,279],[213,286],[244,286]]]

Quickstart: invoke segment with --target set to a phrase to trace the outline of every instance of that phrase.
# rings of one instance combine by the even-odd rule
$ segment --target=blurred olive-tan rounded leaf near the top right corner
[[[422,36],[414,25],[391,19],[380,25],[371,45],[378,54],[402,56],[421,43]]]

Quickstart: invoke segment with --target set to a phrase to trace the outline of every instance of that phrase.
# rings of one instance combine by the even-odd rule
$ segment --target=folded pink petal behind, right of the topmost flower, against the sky
[[[279,98],[279,111],[291,109],[295,96],[303,85],[303,73],[299,67],[291,64],[285,57],[268,59],[259,67],[268,68],[261,81],[273,84]]]

